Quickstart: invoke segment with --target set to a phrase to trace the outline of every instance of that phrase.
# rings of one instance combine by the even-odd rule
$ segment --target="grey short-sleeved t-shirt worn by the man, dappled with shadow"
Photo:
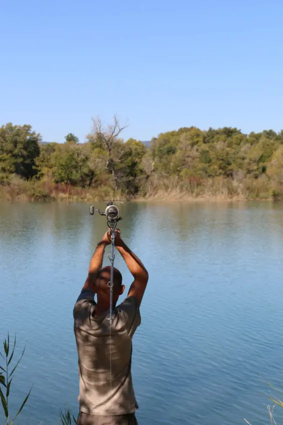
[[[141,322],[139,307],[131,296],[113,309],[110,340],[109,310],[96,317],[95,305],[93,292],[85,290],[73,310],[80,411],[95,415],[132,413],[138,408],[131,360],[132,336]]]

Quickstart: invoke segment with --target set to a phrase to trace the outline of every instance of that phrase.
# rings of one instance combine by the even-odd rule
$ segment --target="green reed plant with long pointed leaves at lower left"
[[[11,387],[11,383],[12,383],[12,375],[15,372],[22,356],[24,353],[24,349],[22,350],[22,353],[19,357],[19,359],[17,360],[17,362],[15,363],[15,365],[13,366],[12,370],[9,371],[9,366],[10,363],[12,362],[13,356],[14,356],[14,351],[15,351],[15,346],[16,346],[16,337],[14,337],[14,342],[13,345],[10,345],[10,338],[9,338],[9,334],[7,339],[5,338],[3,341],[3,348],[4,348],[4,354],[2,352],[0,352],[0,356],[3,360],[3,366],[0,366],[0,399],[1,399],[1,405],[3,408],[3,414],[5,416],[5,424],[6,425],[12,425],[12,423],[14,422],[14,420],[18,417],[19,413],[21,412],[21,410],[23,409],[25,403],[28,400],[29,394],[31,389],[28,391],[26,397],[24,398],[24,400],[22,401],[17,413],[13,416],[13,418],[11,419],[12,415],[11,412],[9,410],[9,397],[10,397],[10,387]],[[11,366],[10,366],[11,367]]]

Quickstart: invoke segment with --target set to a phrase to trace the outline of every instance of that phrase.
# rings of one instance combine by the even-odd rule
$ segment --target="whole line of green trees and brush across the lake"
[[[84,143],[41,143],[30,125],[0,127],[0,186],[7,198],[70,196],[269,198],[283,195],[283,131],[183,127],[150,146],[121,138],[114,116],[94,120]],[[3,195],[2,195],[3,196]]]

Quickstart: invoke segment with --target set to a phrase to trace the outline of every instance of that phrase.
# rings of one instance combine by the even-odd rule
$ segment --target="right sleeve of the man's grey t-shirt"
[[[134,296],[128,296],[119,305],[119,315],[127,333],[129,336],[133,336],[141,324],[140,309]]]

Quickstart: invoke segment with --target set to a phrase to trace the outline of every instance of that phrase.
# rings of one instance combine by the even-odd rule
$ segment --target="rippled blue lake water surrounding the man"
[[[139,424],[270,423],[265,380],[283,380],[283,206],[126,209],[122,237],[150,274],[133,339]],[[104,230],[86,203],[0,204],[0,337],[16,332],[17,354],[26,345],[12,409],[32,386],[21,423],[56,424],[64,406],[77,414],[72,309]]]

